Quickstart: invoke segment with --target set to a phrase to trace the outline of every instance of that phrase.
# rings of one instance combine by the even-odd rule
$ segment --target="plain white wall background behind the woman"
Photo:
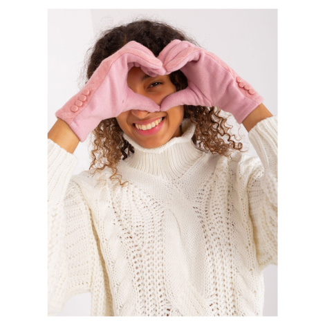
[[[98,32],[124,24],[133,18],[166,21],[187,34],[203,48],[215,53],[264,98],[264,104],[277,115],[277,10],[48,10],[48,129],[53,126],[55,111],[82,86],[80,72],[86,50]],[[257,28],[258,26],[258,28]],[[256,155],[245,128],[234,132],[249,154]],[[78,145],[75,174],[89,169],[89,142]],[[265,304],[263,315],[277,315],[277,267],[264,271]],[[90,315],[91,295],[71,298],[59,315]]]

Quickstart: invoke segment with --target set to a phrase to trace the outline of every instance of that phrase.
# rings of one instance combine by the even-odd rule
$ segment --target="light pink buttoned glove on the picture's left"
[[[79,93],[55,115],[66,122],[80,141],[106,118],[115,118],[124,111],[160,111],[153,100],[134,93],[127,85],[127,74],[138,66],[147,75],[165,75],[163,63],[142,44],[130,41],[104,59]]]

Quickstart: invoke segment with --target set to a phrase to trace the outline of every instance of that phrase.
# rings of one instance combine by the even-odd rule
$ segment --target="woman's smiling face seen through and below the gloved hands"
[[[169,75],[149,77],[140,68],[133,66],[127,76],[127,84],[134,93],[139,93],[154,100],[160,105],[163,99],[176,92],[176,86],[171,83]],[[140,146],[152,149],[165,145],[171,138],[181,136],[180,124],[184,117],[184,106],[175,106],[168,111],[139,111],[131,109],[116,117],[120,128]],[[159,122],[163,118],[161,122]],[[156,122],[155,122],[156,121]],[[153,123],[154,124],[151,124]],[[145,125],[145,129],[138,125]],[[149,125],[151,124],[149,129]],[[158,124],[158,125],[157,125]],[[155,125],[155,127],[153,127]],[[148,126],[148,127],[147,127]]]

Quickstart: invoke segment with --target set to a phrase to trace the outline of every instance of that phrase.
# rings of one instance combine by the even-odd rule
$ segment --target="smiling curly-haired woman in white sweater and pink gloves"
[[[49,314],[90,291],[92,315],[261,315],[277,263],[277,118],[263,98],[156,21],[104,32],[87,77],[48,133]],[[71,178],[91,132],[91,170]]]

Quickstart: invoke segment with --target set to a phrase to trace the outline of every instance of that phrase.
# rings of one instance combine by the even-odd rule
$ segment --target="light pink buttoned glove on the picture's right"
[[[166,74],[180,70],[187,89],[173,93],[160,104],[160,111],[178,105],[217,106],[241,123],[263,102],[252,86],[213,53],[188,41],[175,39],[159,54]]]

